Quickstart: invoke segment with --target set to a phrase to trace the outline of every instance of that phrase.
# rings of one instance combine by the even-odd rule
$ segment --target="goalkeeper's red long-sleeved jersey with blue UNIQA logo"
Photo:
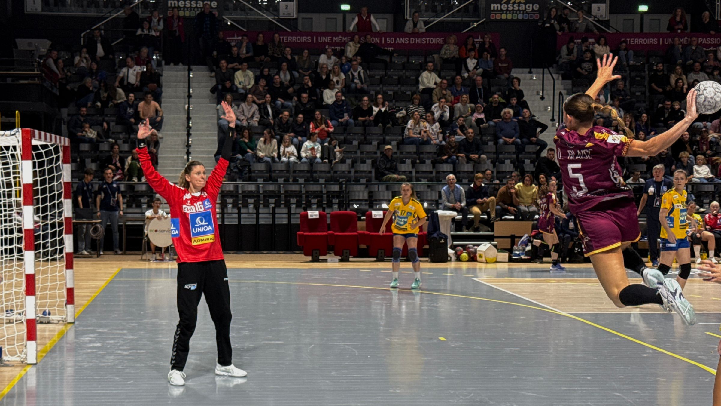
[[[147,147],[138,149],[140,163],[148,184],[170,206],[170,234],[172,236],[177,262],[202,262],[223,259],[216,201],[228,161],[221,158],[216,168],[198,193],[171,183],[156,172],[150,162]]]

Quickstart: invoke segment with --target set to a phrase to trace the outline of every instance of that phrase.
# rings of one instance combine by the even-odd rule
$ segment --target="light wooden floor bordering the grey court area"
[[[128,254],[124,256],[106,255],[100,259],[76,259],[75,262],[75,300],[76,323],[82,323],[82,311],[92,302],[96,295],[102,294],[102,288],[118,274],[120,269],[158,269],[162,273],[175,268],[175,263],[152,263],[141,260],[139,255]],[[378,263],[373,260],[352,261],[340,263],[311,263],[302,255],[228,255],[226,256],[228,268],[257,268],[269,269],[319,269],[323,272],[343,272],[348,275],[348,285],[353,285],[353,272],[390,272],[390,262]],[[657,306],[642,306],[637,308],[616,308],[603,292],[598,280],[593,277],[590,264],[567,264],[566,274],[554,275],[548,272],[548,264],[518,264],[497,263],[478,264],[475,262],[448,262],[448,264],[422,263],[426,274],[447,278],[462,278],[476,280],[508,293],[536,301],[541,306],[554,308],[568,314],[603,314],[603,313],[660,313]],[[514,277],[513,272],[523,269],[524,277]],[[410,273],[410,264],[402,263],[402,273]],[[428,272],[430,271],[430,272]],[[533,277],[528,277],[528,271],[533,271]],[[390,279],[390,275],[389,279]],[[402,275],[409,278],[410,275]],[[640,279],[632,279],[640,282]],[[385,286],[384,286],[385,287]],[[424,288],[432,288],[424,285]],[[721,286],[714,285],[691,277],[684,290],[686,297],[693,303],[697,314],[709,314],[715,321],[721,321]],[[712,314],[717,314],[713,316]],[[64,324],[38,325],[38,359],[42,358],[53,345],[63,337],[71,328]],[[704,326],[704,331],[719,333],[717,326]],[[709,334],[709,333],[707,333]],[[721,336],[720,336],[721,337]],[[0,368],[1,397],[27,372],[30,366],[17,364],[16,366]]]

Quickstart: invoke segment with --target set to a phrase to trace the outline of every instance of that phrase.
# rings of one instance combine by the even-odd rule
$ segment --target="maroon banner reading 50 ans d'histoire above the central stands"
[[[258,33],[262,33],[265,38],[265,43],[269,43],[273,38],[273,32],[270,31],[225,31],[226,40],[235,43],[240,40],[241,35],[248,35],[248,39],[251,43],[255,43],[255,37]],[[345,48],[345,44],[353,40],[353,35],[358,33],[298,33],[298,32],[285,32],[278,33],[280,35],[280,42],[286,46],[293,48],[293,53],[299,53],[300,50],[309,49],[322,49],[330,47],[333,49]],[[446,38],[449,35],[456,35],[458,38],[459,46],[462,45],[469,35],[479,43],[483,40],[483,35],[486,33],[423,33],[423,34],[406,34],[406,33],[373,33],[373,43],[381,48],[386,48],[391,51],[397,50],[427,50],[431,53],[440,52],[443,45],[446,43]],[[496,47],[499,47],[500,35],[498,33],[488,33]],[[365,42],[363,38],[364,33],[361,33],[361,43]]]

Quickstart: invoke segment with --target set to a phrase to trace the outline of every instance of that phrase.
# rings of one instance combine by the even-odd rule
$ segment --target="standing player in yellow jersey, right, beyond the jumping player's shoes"
[[[691,245],[686,238],[689,220],[686,219],[686,182],[688,177],[683,169],[673,173],[673,189],[661,197],[661,258],[658,270],[663,275],[668,274],[673,264],[673,257],[678,261],[678,277],[676,282],[681,289],[691,275]]]

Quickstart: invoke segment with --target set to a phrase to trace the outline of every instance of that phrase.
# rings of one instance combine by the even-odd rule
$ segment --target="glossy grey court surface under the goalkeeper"
[[[424,293],[386,290],[390,273],[360,269],[229,269],[234,363],[249,375],[213,375],[203,301],[185,387],[166,378],[174,269],[123,269],[0,405],[710,404],[712,373],[534,308],[460,269],[426,267]],[[401,282],[408,288],[412,275]],[[704,334],[717,327],[688,328],[660,313],[577,316],[717,365],[718,339]]]

